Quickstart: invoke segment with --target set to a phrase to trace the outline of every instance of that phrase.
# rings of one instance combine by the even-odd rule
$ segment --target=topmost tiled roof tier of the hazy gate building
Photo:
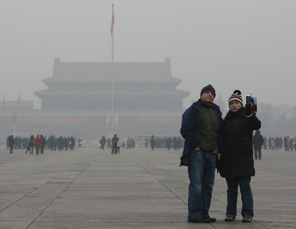
[[[171,82],[169,59],[156,63],[67,63],[55,59],[53,82]]]

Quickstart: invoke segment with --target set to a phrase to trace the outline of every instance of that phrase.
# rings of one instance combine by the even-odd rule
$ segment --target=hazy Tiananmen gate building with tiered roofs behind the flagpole
[[[54,60],[46,90],[35,91],[41,109],[30,101],[0,102],[1,136],[179,135],[183,99],[168,58],[152,63],[75,63]]]

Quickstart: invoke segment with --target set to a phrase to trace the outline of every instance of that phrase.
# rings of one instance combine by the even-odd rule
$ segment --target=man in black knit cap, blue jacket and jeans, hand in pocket
[[[209,216],[215,178],[216,155],[222,146],[222,113],[213,103],[215,89],[201,89],[200,99],[182,115],[180,133],[185,139],[180,166],[188,166],[188,222],[210,223]]]

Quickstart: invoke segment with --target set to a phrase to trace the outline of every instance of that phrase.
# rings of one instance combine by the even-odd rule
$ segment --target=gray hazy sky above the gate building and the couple
[[[212,84],[227,100],[296,105],[295,0],[0,0],[0,100],[33,100],[53,62],[171,60],[188,107]],[[245,100],[245,99],[244,99]]]

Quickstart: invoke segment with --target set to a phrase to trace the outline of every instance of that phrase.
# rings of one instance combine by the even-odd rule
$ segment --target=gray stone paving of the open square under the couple
[[[226,183],[216,173],[210,214],[187,223],[181,150],[76,148],[44,155],[0,148],[0,228],[296,228],[296,151],[263,151],[252,177],[255,217],[224,222]],[[238,212],[241,200],[238,198]]]

